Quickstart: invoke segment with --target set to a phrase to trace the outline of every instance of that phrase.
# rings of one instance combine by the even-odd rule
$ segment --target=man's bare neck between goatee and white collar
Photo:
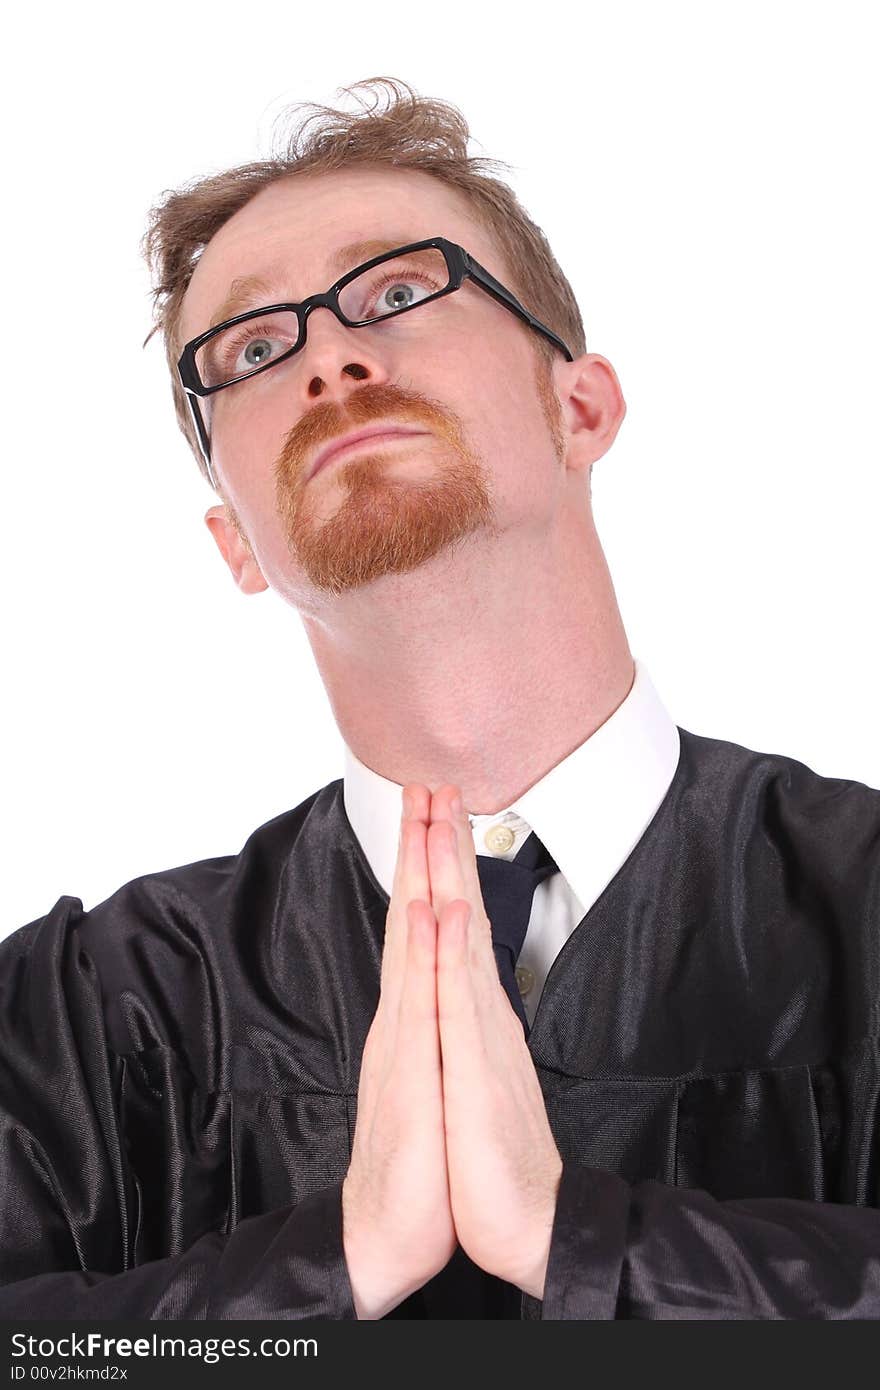
[[[303,623],[352,752],[494,815],[613,714],[634,663],[589,507],[453,549]]]

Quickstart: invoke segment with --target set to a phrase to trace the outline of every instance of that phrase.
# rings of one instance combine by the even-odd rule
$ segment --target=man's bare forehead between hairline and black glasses
[[[359,168],[270,183],[204,247],[184,296],[179,339],[204,332],[235,279],[260,275],[278,285],[279,299],[299,300],[339,278],[334,256],[343,246],[428,236],[448,236],[496,268],[489,234],[462,195],[418,170]]]

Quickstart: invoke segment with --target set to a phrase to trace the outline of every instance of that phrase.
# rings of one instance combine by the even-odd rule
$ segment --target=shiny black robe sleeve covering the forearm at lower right
[[[880,1318],[880,1211],[563,1165],[541,1318]]]

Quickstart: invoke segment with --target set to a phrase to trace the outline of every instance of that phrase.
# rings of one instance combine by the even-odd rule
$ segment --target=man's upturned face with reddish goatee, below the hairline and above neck
[[[202,254],[182,341],[207,329],[238,278],[260,275],[274,293],[224,317],[306,299],[378,254],[341,270],[335,257],[352,243],[438,235],[509,282],[489,235],[430,175],[360,168],[274,183]],[[488,541],[539,524],[564,457],[559,400],[538,368],[534,331],[470,281],[363,328],[313,310],[299,353],[203,407],[214,471],[238,521],[224,507],[209,512],[220,549],[242,588],[271,585],[304,609],[316,591],[410,573],[464,537]],[[318,450],[377,425],[413,432],[350,446],[309,477]]]

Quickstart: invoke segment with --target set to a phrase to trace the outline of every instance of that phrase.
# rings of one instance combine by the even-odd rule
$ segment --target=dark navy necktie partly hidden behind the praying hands
[[[482,903],[492,924],[492,949],[498,974],[523,1023],[525,1037],[528,1037],[528,1019],[516,983],[516,962],[528,931],[535,888],[556,872],[557,865],[534,830],[514,859],[477,855]]]

